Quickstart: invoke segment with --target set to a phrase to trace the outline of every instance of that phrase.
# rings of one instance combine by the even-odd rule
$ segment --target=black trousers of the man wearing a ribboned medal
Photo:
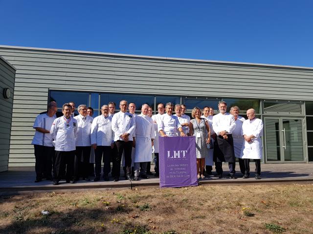
[[[66,180],[73,179],[75,151],[55,151],[53,160],[54,180],[60,181],[67,171]]]

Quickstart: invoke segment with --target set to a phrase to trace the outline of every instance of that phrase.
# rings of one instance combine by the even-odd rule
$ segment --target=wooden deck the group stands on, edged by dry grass
[[[152,166],[153,167],[153,166]],[[223,165],[224,175],[227,174],[228,165]],[[239,165],[236,165],[239,170]],[[250,164],[251,177],[248,179],[241,178],[240,172],[236,173],[237,179],[211,177],[201,179],[201,184],[238,184],[238,183],[269,183],[269,182],[310,182],[313,183],[313,163],[285,163],[285,164],[261,164],[262,179],[254,178],[254,163]],[[213,169],[214,170],[214,169]],[[123,175],[123,173],[121,173]],[[120,180],[110,181],[78,181],[75,184],[67,184],[61,180],[57,186],[52,185],[52,181],[43,180],[34,183],[34,168],[9,168],[7,172],[0,173],[0,194],[2,192],[14,191],[34,191],[34,190],[60,190],[60,189],[90,189],[90,188],[118,188],[118,187],[135,187],[135,186],[159,186],[159,178],[151,176],[149,179],[139,181]],[[311,182],[310,182],[311,183]]]

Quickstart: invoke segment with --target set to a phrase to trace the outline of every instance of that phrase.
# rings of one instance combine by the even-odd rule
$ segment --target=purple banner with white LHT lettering
[[[197,186],[195,137],[158,137],[160,188]]]

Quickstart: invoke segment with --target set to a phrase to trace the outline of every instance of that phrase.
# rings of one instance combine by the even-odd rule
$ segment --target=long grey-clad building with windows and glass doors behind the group
[[[0,56],[17,69],[10,167],[34,166],[32,125],[51,100],[87,104],[94,116],[121,99],[138,113],[159,102],[218,113],[224,100],[264,120],[264,163],[313,161],[313,68],[17,46],[0,46]]]

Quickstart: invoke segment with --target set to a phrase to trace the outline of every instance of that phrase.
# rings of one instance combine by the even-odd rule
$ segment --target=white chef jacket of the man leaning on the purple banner
[[[177,137],[178,129],[181,127],[179,120],[176,116],[164,114],[160,117],[157,123],[157,130],[163,130],[168,137]]]

